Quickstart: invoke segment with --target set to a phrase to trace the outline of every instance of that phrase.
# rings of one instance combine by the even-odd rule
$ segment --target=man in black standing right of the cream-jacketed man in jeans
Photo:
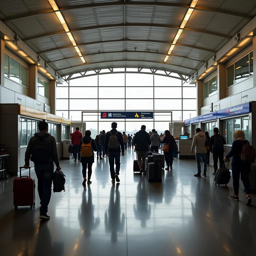
[[[217,127],[213,129],[213,134],[210,138],[209,146],[213,157],[214,173],[212,174],[215,175],[218,169],[218,159],[220,161],[220,168],[224,165],[224,145],[227,143],[225,138],[219,134]]]

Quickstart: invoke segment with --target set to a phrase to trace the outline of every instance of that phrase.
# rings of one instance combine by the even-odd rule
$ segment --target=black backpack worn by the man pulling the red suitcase
[[[47,137],[50,134],[45,134],[44,136],[39,136],[35,133],[36,139],[33,143],[32,153],[31,153],[31,161],[36,164],[47,163],[51,156],[51,148]]]

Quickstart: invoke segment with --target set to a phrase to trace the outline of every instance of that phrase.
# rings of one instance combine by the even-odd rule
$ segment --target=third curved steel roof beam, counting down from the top
[[[87,45],[94,45],[94,44],[101,44],[101,43],[115,43],[115,42],[151,42],[151,43],[160,43],[160,44],[168,44],[168,45],[172,44],[172,42],[158,41],[158,40],[121,39],[121,40],[89,42],[89,43],[85,43],[85,44],[78,44],[77,46],[80,47],[80,46],[87,46]],[[198,50],[202,50],[202,51],[208,51],[208,52],[211,52],[211,53],[214,53],[214,54],[217,52],[217,51],[212,50],[212,49],[197,47],[197,46],[194,46],[194,45],[179,44],[179,43],[176,43],[176,45],[184,46],[184,47],[188,47],[188,48],[194,48],[194,49],[198,49]],[[73,45],[61,46],[61,47],[56,47],[56,48],[51,48],[51,49],[48,49],[48,50],[45,50],[45,51],[41,51],[41,52],[38,52],[37,54],[40,55],[40,54],[45,54],[45,53],[52,52],[52,51],[58,51],[58,50],[73,48],[73,47],[74,47]],[[165,53],[165,55],[166,55],[166,53]]]

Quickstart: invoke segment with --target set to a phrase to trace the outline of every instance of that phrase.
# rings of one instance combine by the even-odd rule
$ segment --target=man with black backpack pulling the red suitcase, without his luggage
[[[51,199],[51,185],[54,173],[54,165],[56,169],[61,170],[56,140],[54,136],[48,133],[48,123],[39,122],[39,133],[31,137],[25,153],[24,168],[29,168],[29,160],[35,164],[35,172],[38,179],[38,194],[40,197],[40,219],[50,219],[47,215],[48,204]]]

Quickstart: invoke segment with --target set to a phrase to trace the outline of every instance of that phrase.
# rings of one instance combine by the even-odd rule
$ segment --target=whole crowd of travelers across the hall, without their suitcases
[[[39,122],[39,133],[36,133],[30,138],[27,150],[25,153],[25,165],[29,168],[30,160],[35,163],[35,172],[38,178],[38,194],[40,197],[40,219],[49,219],[47,215],[48,204],[51,198],[51,186],[54,176],[54,165],[56,164],[56,171],[60,171],[60,163],[57,151],[56,140],[54,136],[48,133],[48,123]],[[201,177],[201,163],[203,162],[203,176],[206,176],[207,166],[209,166],[209,152],[212,152],[214,160],[214,173],[216,175],[218,169],[218,160],[220,168],[224,165],[224,161],[232,157],[231,168],[233,177],[234,194],[229,196],[230,199],[239,201],[239,179],[243,182],[244,190],[246,193],[246,204],[251,204],[252,199],[250,196],[250,162],[246,162],[246,146],[250,146],[249,141],[245,139],[245,134],[242,130],[234,131],[234,141],[230,152],[224,157],[224,145],[226,144],[225,138],[219,134],[219,129],[214,128],[214,135],[209,136],[208,132],[202,133],[200,128],[196,129],[196,135],[193,137],[191,153],[196,156],[197,173],[196,177]],[[173,168],[173,153],[177,150],[177,144],[173,135],[166,130],[164,134],[158,134],[155,129],[146,132],[146,126],[142,125],[141,130],[133,135],[121,133],[117,130],[117,123],[111,124],[111,130],[100,132],[95,139],[91,138],[91,131],[85,131],[84,136],[79,131],[79,127],[72,133],[71,142],[74,147],[74,161],[81,162],[83,185],[90,184],[92,175],[92,165],[94,163],[94,152],[97,152],[97,159],[102,160],[103,157],[108,157],[110,176],[112,183],[120,182],[120,158],[125,155],[125,150],[133,149],[137,154],[137,163],[140,168],[140,174],[145,173],[145,159],[148,151],[159,152],[159,148],[168,145],[168,151],[164,152],[164,158],[167,167],[166,170]],[[43,147],[45,146],[45,148]],[[163,146],[163,147],[161,147]],[[37,148],[36,148],[37,147]],[[46,155],[36,154],[44,152]],[[163,150],[164,151],[164,150]],[[255,150],[254,150],[255,152]],[[47,161],[43,162],[43,159]],[[33,159],[32,159],[33,158]],[[254,155],[255,159],[255,155]],[[88,172],[87,172],[88,169]]]

